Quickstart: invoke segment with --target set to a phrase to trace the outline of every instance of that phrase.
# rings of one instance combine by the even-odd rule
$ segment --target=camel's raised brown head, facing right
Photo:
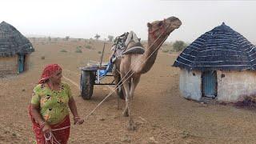
[[[169,35],[175,29],[178,29],[182,22],[176,17],[166,18],[162,21],[147,23],[149,34],[153,38],[158,38],[161,34]]]

